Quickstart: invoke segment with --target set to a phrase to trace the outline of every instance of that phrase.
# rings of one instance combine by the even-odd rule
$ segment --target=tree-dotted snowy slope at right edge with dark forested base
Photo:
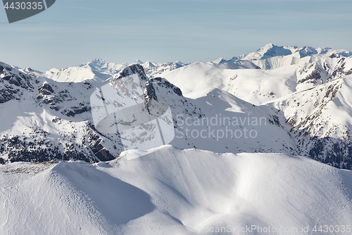
[[[291,124],[300,155],[346,168],[342,162],[352,155],[351,81],[346,76],[268,103]]]

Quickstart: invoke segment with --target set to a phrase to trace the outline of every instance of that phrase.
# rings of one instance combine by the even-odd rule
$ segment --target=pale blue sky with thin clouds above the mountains
[[[212,61],[277,45],[352,50],[351,0],[56,0],[8,24],[0,61],[46,70],[94,58]]]

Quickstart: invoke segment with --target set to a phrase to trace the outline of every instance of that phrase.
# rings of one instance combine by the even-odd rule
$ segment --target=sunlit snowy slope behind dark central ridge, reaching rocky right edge
[[[328,52],[305,56],[293,64],[284,62],[292,54],[270,57],[268,59],[275,60],[275,63],[279,64],[271,69],[241,69],[231,68],[225,62],[222,63],[223,66],[196,62],[162,73],[161,77],[177,85],[187,97],[201,97],[209,90],[219,88],[242,100],[259,105],[352,74],[352,58],[338,54],[347,52],[342,53],[338,50]],[[263,60],[257,62],[262,63]]]

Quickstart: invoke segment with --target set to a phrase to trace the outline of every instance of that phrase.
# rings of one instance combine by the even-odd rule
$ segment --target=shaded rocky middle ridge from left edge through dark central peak
[[[59,83],[35,71],[25,73],[6,64],[3,64],[3,70],[1,94],[6,95],[0,101],[1,110],[4,110],[0,116],[0,151],[4,159],[12,162],[50,159],[94,162],[114,159],[122,152],[118,133],[99,133],[94,128],[89,98],[96,90],[96,83]],[[131,74],[138,74],[146,81],[145,100],[153,104],[153,101],[162,99],[170,104],[177,133],[172,141],[175,147],[196,147],[215,152],[296,154],[289,133],[277,123],[275,109],[253,107],[253,104],[218,88],[210,90],[205,97],[192,100],[183,97],[181,90],[164,78],[147,78],[143,67],[138,64],[113,76],[111,83]],[[206,121],[211,118],[219,119],[219,122],[209,130]],[[214,140],[214,132],[226,131],[225,123],[220,122],[226,119],[237,121],[230,123],[231,137]],[[253,119],[263,125],[256,123],[253,126]],[[189,120],[201,123],[193,125]],[[239,136],[253,128],[256,128],[256,138]],[[191,134],[204,130],[208,130],[206,138]],[[238,134],[233,136],[234,133]],[[139,141],[138,137],[135,141]],[[214,141],[217,145],[213,145]]]

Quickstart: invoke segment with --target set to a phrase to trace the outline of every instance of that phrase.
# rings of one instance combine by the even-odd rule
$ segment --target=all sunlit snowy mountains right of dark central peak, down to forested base
[[[236,61],[197,62],[161,76],[186,97],[203,97],[218,88],[259,107],[272,107],[279,111],[280,123],[289,124],[282,126],[296,142],[298,155],[351,169],[351,55],[268,44]],[[243,61],[263,69],[219,66]]]

